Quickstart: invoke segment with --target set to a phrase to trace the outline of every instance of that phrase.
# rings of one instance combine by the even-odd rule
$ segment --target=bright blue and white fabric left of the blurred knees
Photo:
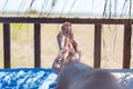
[[[0,69],[0,89],[52,89],[55,79],[52,69]]]

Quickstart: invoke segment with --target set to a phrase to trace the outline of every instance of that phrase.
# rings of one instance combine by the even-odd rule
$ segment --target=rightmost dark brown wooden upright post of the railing
[[[132,24],[131,22],[124,24],[124,46],[123,46],[123,68],[129,69],[131,62],[131,37]]]

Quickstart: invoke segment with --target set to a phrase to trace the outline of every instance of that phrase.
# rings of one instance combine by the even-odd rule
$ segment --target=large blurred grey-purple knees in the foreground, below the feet
[[[123,89],[104,69],[93,69],[78,61],[63,66],[55,89]]]

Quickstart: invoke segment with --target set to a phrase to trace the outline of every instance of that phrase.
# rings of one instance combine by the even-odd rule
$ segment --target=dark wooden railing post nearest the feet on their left
[[[40,23],[34,23],[34,67],[40,67],[41,61],[40,61],[40,46],[41,46],[41,38],[40,38],[41,29],[40,29]]]

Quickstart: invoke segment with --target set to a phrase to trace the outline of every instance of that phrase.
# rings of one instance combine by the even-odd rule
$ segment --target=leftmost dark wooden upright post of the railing
[[[4,68],[10,68],[10,23],[3,23],[3,52]]]

